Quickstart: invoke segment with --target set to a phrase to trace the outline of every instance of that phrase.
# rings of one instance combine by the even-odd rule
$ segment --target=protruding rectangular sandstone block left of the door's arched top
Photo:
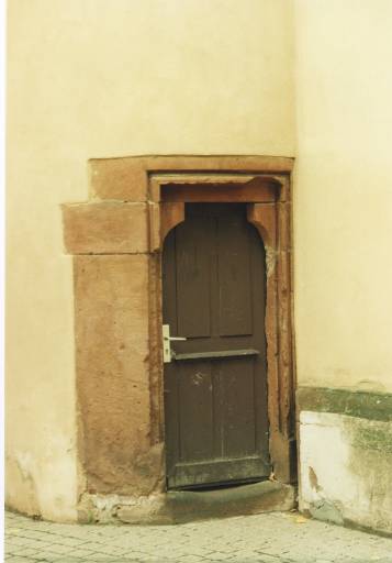
[[[148,251],[145,203],[78,203],[63,206],[68,254],[133,254]]]

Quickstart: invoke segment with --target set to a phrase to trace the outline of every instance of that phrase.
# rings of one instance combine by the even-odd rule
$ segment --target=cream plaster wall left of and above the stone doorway
[[[87,161],[293,155],[287,0],[8,5],[8,503],[76,517],[71,258],[59,203]]]

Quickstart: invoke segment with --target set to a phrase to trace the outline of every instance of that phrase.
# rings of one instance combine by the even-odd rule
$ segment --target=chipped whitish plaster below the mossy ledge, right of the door
[[[392,422],[302,411],[300,508],[392,532]]]

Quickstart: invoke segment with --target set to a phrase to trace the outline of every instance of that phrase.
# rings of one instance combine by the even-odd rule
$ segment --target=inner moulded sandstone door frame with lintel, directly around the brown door
[[[202,185],[202,195],[199,195]],[[167,188],[170,190],[167,190]],[[150,224],[150,241],[156,243],[159,267],[155,276],[157,320],[155,332],[160,338],[163,324],[161,255],[167,234],[184,221],[187,202],[244,202],[247,220],[260,234],[266,250],[267,300],[267,389],[269,449],[273,475],[283,483],[295,481],[295,428],[293,336],[291,325],[291,202],[290,178],[279,174],[205,174],[158,173],[149,176],[149,196],[159,205],[159,230]],[[164,364],[161,345],[156,342],[159,366],[155,374],[159,388],[159,427],[165,441]]]

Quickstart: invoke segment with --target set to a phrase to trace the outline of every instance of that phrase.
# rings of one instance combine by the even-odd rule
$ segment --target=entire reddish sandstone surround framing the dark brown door
[[[266,246],[270,454],[273,478],[295,479],[292,166],[271,156],[89,162],[89,200],[63,206],[74,255],[80,501],[165,492],[161,247],[198,197],[246,202]]]

